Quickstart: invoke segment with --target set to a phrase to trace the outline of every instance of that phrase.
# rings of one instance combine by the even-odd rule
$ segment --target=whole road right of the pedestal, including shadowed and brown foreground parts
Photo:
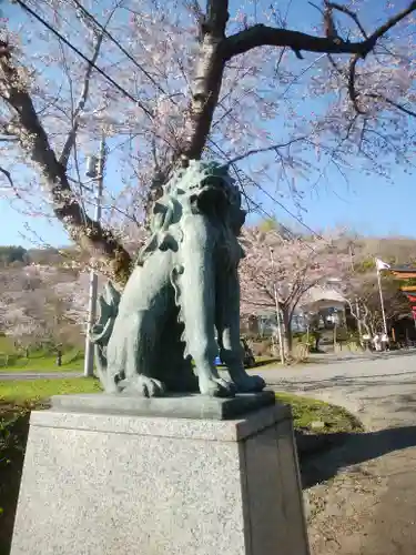
[[[313,555],[414,555],[416,354],[262,374],[278,390],[345,406],[368,430],[304,468]]]

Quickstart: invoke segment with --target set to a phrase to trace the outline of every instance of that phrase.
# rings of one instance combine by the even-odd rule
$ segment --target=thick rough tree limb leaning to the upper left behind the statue
[[[6,48],[7,43],[0,42],[1,47]],[[55,216],[73,241],[110,261],[110,272],[114,280],[125,283],[130,273],[130,254],[110,231],[91,220],[78,203],[68,181],[67,169],[57,160],[32,99],[11,63],[9,51],[0,57],[0,68],[6,89],[4,100],[17,113],[19,142],[31,160],[40,167]]]

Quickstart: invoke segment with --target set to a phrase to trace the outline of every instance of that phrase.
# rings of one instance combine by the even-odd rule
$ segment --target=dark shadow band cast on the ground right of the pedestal
[[[319,436],[317,441],[318,438]],[[361,434],[325,434],[325,440],[331,442],[334,448],[315,455],[300,453],[303,488],[329,480],[343,468],[354,470],[354,465],[416,446],[416,426],[392,427]]]

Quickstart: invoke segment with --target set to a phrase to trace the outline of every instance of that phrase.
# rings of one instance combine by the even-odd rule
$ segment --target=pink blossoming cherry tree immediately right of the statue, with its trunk
[[[245,315],[276,312],[283,316],[286,350],[292,350],[291,322],[295,309],[314,287],[345,279],[349,255],[336,246],[336,236],[282,236],[278,230],[245,230],[241,262],[241,306]]]

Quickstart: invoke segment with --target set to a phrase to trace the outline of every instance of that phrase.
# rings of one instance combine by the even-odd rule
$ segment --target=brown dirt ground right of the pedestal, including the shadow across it
[[[303,465],[312,555],[416,553],[415,443],[416,427],[392,428]]]

